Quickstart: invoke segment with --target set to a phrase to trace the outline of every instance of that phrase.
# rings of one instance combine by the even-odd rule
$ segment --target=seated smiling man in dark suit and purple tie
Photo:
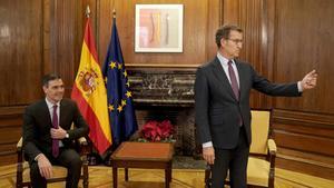
[[[76,188],[82,162],[71,141],[87,136],[89,128],[76,102],[62,98],[65,88],[59,76],[45,76],[42,85],[46,98],[27,107],[23,115],[23,150],[32,187],[47,187],[52,165],[60,165],[68,169],[66,187]],[[75,128],[70,129],[72,123]]]

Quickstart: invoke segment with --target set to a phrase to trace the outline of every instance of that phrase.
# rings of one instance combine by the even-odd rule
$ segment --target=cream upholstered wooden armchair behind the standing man
[[[274,187],[277,148],[269,137],[271,117],[271,110],[252,110],[252,145],[247,166],[247,185],[252,187]],[[205,182],[206,188],[209,188],[209,166],[205,171]]]

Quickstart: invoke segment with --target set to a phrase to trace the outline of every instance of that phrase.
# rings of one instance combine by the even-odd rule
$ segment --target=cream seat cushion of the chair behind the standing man
[[[255,186],[268,186],[271,164],[265,159],[248,158],[247,184]]]

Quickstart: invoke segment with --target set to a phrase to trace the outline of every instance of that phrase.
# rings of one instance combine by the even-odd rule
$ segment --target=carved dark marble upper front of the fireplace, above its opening
[[[130,70],[134,101],[139,106],[194,106],[195,71]]]

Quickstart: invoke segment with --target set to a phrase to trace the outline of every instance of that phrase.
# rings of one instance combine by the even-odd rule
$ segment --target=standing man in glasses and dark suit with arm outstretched
[[[243,30],[223,26],[216,32],[217,57],[198,68],[195,82],[196,127],[203,157],[212,165],[213,188],[223,188],[229,169],[230,187],[246,188],[250,145],[249,92],[301,96],[316,86],[315,70],[302,81],[276,85],[258,76],[249,63],[236,58],[243,47]]]

